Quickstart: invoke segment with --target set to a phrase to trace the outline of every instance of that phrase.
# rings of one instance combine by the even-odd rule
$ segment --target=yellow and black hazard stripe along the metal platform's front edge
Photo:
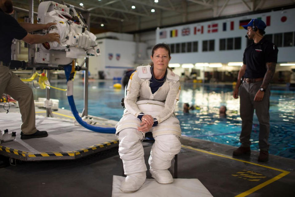
[[[112,144],[117,144],[119,140],[111,140],[109,142],[104,142],[101,144],[96,144],[87,148],[80,149],[78,151],[68,151],[68,152],[42,152],[42,153],[30,153],[30,152],[25,152],[25,151],[19,151],[17,149],[9,148],[9,147],[4,147],[0,146],[0,151],[6,152],[6,153],[12,153],[15,155],[23,156],[23,157],[62,157],[62,156],[70,156],[74,157],[75,155],[80,155],[83,153],[87,153],[89,151],[93,151],[99,148],[104,148],[108,147]]]

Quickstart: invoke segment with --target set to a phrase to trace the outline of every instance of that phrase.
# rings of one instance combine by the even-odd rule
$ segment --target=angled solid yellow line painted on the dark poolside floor
[[[219,154],[216,154],[216,153],[212,153],[212,152],[209,152],[209,151],[204,151],[204,150],[201,150],[201,149],[198,149],[198,148],[193,148],[193,147],[186,146],[186,145],[182,145],[182,147],[188,148],[188,149],[191,149],[191,150],[194,150],[194,151],[199,151],[199,152],[207,153],[207,154],[210,154],[210,155],[224,157],[224,158],[227,158],[227,159],[232,159],[232,160],[240,161],[240,162],[243,162],[243,163],[249,163],[249,164],[252,164],[252,165],[255,165],[255,166],[265,167],[265,168],[269,168],[269,169],[272,169],[272,170],[282,172],[281,174],[273,177],[272,179],[269,179],[269,180],[265,181],[264,183],[261,183],[261,184],[255,186],[255,187],[251,188],[250,190],[244,191],[243,193],[241,193],[239,195],[236,195],[235,197],[247,196],[247,195],[253,193],[254,191],[257,191],[257,190],[261,189],[262,187],[265,187],[265,186],[269,185],[270,183],[273,183],[276,180],[281,179],[282,177],[284,177],[284,176],[286,176],[286,175],[288,175],[290,173],[288,171],[277,169],[277,168],[274,168],[274,167],[264,166],[264,165],[261,165],[261,164],[252,163],[252,162],[249,162],[249,161],[244,161],[244,160],[241,160],[241,159],[235,159],[235,158],[232,158],[232,157],[219,155]]]

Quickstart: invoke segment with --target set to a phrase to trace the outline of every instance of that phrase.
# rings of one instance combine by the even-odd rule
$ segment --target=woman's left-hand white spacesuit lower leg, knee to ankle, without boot
[[[119,132],[119,155],[123,161],[124,174],[145,178],[144,148],[141,141],[144,134],[137,129],[127,128]]]

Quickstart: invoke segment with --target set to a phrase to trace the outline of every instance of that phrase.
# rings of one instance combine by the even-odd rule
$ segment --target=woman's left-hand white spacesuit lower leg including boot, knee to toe
[[[144,135],[137,129],[127,128],[119,132],[119,155],[123,161],[124,174],[120,190],[125,193],[137,191],[145,182],[147,167],[144,163]]]

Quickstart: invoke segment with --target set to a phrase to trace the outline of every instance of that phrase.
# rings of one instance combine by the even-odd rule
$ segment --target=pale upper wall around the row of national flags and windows
[[[171,54],[171,63],[197,63],[197,62],[242,62],[243,52],[246,48],[246,30],[239,28],[239,21],[251,18],[261,17],[264,22],[266,22],[266,17],[271,16],[270,26],[267,26],[265,31],[266,34],[275,34],[282,32],[293,32],[295,31],[295,9],[288,9],[284,11],[273,11],[260,14],[245,15],[235,18],[227,18],[221,20],[214,20],[209,22],[200,22],[189,25],[174,26],[169,28],[157,29],[156,30],[156,43],[166,42],[167,44],[175,44],[181,42],[192,42],[198,41],[198,52],[191,53],[177,53]],[[281,17],[286,16],[287,21],[281,22]],[[234,30],[230,30],[230,22],[234,21]],[[226,22],[226,31],[222,30],[223,23]],[[208,25],[214,23],[218,24],[218,32],[208,33]],[[197,32],[194,34],[194,27],[203,26],[203,34]],[[190,34],[183,36],[183,28],[189,28]],[[177,37],[170,37],[171,30],[177,30]],[[166,31],[166,38],[160,38],[160,32]],[[235,38],[242,37],[241,49],[240,50],[225,50],[219,51],[219,39],[220,38]],[[215,50],[214,51],[202,51],[203,40],[215,40]],[[294,41],[293,41],[294,42]],[[293,43],[294,44],[294,43]],[[295,46],[291,47],[279,47],[278,62],[295,62]]]

